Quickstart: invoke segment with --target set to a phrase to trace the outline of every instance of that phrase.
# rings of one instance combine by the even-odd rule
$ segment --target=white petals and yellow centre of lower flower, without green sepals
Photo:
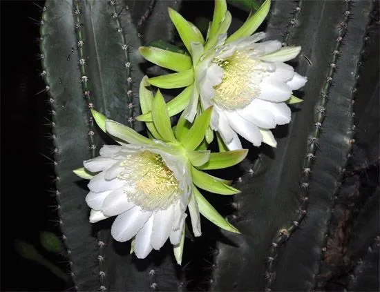
[[[191,175],[182,157],[149,146],[103,146],[100,156],[84,162],[96,173],[88,184],[90,222],[117,215],[115,240],[135,237],[135,254],[144,258],[170,239],[180,244],[192,191]]]

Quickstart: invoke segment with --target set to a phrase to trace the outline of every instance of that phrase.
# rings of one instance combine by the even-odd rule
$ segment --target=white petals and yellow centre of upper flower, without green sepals
[[[218,130],[230,150],[241,149],[238,134],[254,146],[276,146],[269,130],[290,121],[285,104],[292,90],[307,79],[283,62],[294,59],[301,47],[281,47],[280,41],[258,41],[259,32],[225,44],[220,35],[214,50],[196,67],[196,84],[203,108],[214,106],[211,128]]]

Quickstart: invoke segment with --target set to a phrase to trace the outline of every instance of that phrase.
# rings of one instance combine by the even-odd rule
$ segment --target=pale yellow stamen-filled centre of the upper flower
[[[248,106],[260,94],[265,69],[261,61],[249,57],[249,51],[236,51],[229,59],[214,59],[224,69],[222,82],[215,86],[213,101],[227,109]]]

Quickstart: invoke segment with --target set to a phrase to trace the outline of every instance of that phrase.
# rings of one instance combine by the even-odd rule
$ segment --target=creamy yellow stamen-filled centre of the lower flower
[[[148,150],[128,155],[117,178],[126,180],[128,198],[143,210],[166,209],[181,197],[178,180],[161,155]]]

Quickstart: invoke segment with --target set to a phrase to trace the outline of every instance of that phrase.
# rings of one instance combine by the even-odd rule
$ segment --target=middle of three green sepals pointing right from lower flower
[[[220,195],[235,195],[240,193],[236,188],[228,186],[219,179],[216,179],[216,177],[198,171],[198,169],[193,166],[191,167],[191,176],[193,177],[194,184],[205,191]]]

